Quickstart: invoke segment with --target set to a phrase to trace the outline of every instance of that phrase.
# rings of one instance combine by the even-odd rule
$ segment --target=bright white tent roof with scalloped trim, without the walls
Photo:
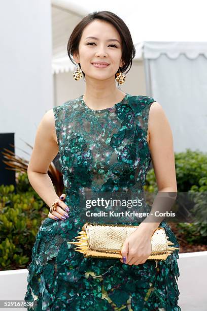
[[[68,72],[76,67],[71,63],[66,53],[66,44],[75,25],[88,13],[108,10],[119,15],[129,27],[136,56],[134,60],[143,60],[144,42],[161,42],[162,52],[167,49],[168,55],[177,52],[190,52],[195,49],[199,54],[199,44],[206,42],[206,10],[204,1],[175,0],[166,2],[119,1],[106,0],[98,4],[94,0],[52,0],[52,37],[53,37],[53,73]],[[169,46],[169,42],[175,43]],[[177,43],[180,42],[179,46]],[[187,47],[185,42],[191,42]],[[151,51],[152,52],[152,51]],[[158,51],[159,52],[159,51]],[[206,52],[206,51],[205,51]],[[192,51],[191,54],[194,52]],[[175,54],[174,54],[175,55]]]

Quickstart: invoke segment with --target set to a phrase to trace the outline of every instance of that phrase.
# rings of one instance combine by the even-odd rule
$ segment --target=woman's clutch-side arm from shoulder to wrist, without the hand
[[[152,205],[152,212],[169,211],[177,195],[175,154],[172,132],[167,117],[158,102],[151,105],[148,119],[149,149],[155,172],[158,194]],[[168,195],[169,193],[169,195]],[[149,215],[143,226],[154,232],[165,217]],[[157,220],[152,222],[152,220]]]

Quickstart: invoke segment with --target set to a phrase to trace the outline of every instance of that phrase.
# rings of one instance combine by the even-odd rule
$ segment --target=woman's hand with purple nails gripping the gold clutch
[[[149,223],[141,223],[139,227],[124,241],[121,254],[126,258],[122,263],[139,265],[146,262],[152,252],[151,236],[155,230]]]

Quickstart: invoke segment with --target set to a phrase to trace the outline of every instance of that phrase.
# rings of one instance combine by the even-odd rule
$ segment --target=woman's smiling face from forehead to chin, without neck
[[[79,42],[79,55],[74,53],[73,57],[76,63],[81,64],[86,79],[87,77],[97,80],[115,79],[119,67],[123,66],[120,35],[112,24],[95,19],[84,28]],[[109,65],[107,67],[92,65],[98,61],[105,61]]]

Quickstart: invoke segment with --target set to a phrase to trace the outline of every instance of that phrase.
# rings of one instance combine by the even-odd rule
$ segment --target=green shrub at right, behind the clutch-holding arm
[[[196,216],[196,223],[178,223],[176,226],[189,243],[206,244],[207,219],[207,154],[200,151],[175,152],[175,168],[178,192],[192,193],[194,207],[192,215]],[[154,170],[147,173],[145,191],[157,193]],[[199,215],[199,218],[198,218]]]

